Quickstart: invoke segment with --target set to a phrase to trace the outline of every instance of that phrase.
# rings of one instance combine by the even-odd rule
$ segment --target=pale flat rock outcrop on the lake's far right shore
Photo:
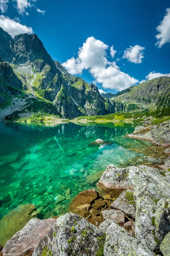
[[[148,127],[137,126],[128,136],[152,140],[156,145],[170,145],[170,121]]]

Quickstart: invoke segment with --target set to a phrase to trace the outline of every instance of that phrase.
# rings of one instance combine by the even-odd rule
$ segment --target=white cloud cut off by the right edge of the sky
[[[156,30],[159,32],[156,35],[157,47],[161,48],[163,44],[170,43],[170,8],[166,9],[166,14]]]

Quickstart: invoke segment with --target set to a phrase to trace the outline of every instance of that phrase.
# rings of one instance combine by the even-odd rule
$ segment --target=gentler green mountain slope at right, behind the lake
[[[139,110],[154,110],[170,106],[170,77],[162,76],[129,87],[111,98],[124,105],[134,105]]]

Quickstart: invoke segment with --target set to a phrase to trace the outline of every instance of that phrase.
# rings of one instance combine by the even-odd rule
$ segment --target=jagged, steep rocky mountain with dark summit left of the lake
[[[21,34],[12,39],[0,29],[0,38],[0,61],[11,63],[22,90],[35,100],[51,103],[55,113],[64,118],[112,112],[111,103],[103,99],[97,87],[71,76],[58,61],[53,61],[37,35]]]

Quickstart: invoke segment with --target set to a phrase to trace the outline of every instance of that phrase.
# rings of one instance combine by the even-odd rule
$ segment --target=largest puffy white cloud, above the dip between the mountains
[[[62,66],[72,75],[89,70],[95,81],[101,83],[103,88],[123,90],[136,84],[137,79],[120,71],[114,61],[108,61],[107,49],[107,44],[91,36],[79,48],[78,57],[68,59]]]

